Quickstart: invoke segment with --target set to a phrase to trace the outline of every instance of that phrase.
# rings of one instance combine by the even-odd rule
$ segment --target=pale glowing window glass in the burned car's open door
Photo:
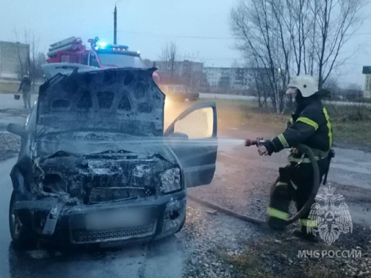
[[[174,132],[183,133],[189,139],[210,138],[213,136],[214,113],[211,107],[195,110],[174,125]]]

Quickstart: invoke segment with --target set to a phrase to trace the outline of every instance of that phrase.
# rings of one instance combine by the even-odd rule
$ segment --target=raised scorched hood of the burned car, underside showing
[[[153,81],[154,70],[55,75],[39,90],[36,135],[85,130],[163,135],[165,95]]]

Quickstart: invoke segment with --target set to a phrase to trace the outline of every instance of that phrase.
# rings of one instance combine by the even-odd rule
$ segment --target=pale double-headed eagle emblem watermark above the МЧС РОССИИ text
[[[307,233],[316,235],[328,245],[333,244],[341,234],[353,232],[353,222],[348,205],[341,194],[334,194],[335,186],[326,186],[325,194],[317,194],[316,202],[309,213]]]

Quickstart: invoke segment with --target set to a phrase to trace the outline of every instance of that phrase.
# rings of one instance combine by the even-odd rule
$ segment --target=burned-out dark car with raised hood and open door
[[[215,103],[196,104],[164,131],[153,69],[57,74],[39,90],[10,173],[13,242],[150,241],[180,231],[186,188],[215,172]],[[195,128],[195,121],[200,124]]]

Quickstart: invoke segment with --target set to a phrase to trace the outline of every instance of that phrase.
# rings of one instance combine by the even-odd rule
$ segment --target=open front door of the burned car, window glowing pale
[[[192,105],[165,131],[164,136],[181,163],[186,187],[211,183],[218,149],[216,134],[215,103]]]

